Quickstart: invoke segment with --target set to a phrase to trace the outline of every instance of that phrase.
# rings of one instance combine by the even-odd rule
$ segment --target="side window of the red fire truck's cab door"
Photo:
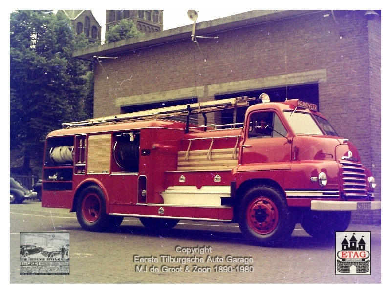
[[[251,115],[249,138],[281,137],[282,135],[286,136],[287,131],[276,113],[260,112]]]

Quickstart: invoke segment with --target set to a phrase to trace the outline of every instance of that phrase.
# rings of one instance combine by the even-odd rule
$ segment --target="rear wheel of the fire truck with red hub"
[[[118,228],[124,217],[106,213],[106,201],[102,189],[96,185],[85,188],[78,198],[77,220],[84,230],[102,232]]]

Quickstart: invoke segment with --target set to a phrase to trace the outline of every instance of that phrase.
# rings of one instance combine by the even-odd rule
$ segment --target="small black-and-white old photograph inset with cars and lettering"
[[[69,232],[21,232],[20,275],[68,275]]]

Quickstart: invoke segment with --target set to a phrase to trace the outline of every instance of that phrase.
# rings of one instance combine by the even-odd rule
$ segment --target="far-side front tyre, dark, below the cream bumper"
[[[312,237],[334,239],[336,231],[345,231],[350,223],[351,211],[315,211],[304,209],[301,225]]]

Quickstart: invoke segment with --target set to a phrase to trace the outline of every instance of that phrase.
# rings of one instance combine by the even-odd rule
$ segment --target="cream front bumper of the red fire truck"
[[[330,201],[312,200],[311,210],[342,211],[342,210],[378,210],[381,209],[381,201]]]

